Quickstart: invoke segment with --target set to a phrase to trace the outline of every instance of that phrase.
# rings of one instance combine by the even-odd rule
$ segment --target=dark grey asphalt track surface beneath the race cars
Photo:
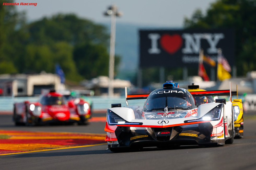
[[[144,148],[112,153],[107,145],[0,155],[0,169],[256,169],[256,112],[244,114],[244,138],[221,147]],[[105,114],[99,114],[104,116]],[[0,115],[0,130],[105,133],[104,122],[89,125],[15,127]]]

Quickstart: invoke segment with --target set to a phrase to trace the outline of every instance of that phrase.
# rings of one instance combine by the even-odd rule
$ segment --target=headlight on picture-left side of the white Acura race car
[[[128,122],[125,119],[121,118],[117,114],[115,114],[112,110],[107,110],[107,119],[108,125],[142,125],[140,122]]]

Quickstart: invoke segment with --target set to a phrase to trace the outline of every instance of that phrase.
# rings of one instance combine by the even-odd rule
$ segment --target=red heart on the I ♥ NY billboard
[[[173,35],[164,34],[160,39],[160,43],[162,48],[166,52],[170,54],[174,54],[181,48],[183,39],[179,34],[173,34]]]

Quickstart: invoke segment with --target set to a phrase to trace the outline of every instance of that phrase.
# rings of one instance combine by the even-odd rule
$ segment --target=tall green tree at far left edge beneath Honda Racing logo
[[[19,58],[24,53],[24,45],[28,39],[25,14],[17,12],[14,5],[3,5],[13,3],[12,0],[0,0],[0,74],[17,73],[16,64],[20,63]],[[7,66],[9,67],[7,67]]]

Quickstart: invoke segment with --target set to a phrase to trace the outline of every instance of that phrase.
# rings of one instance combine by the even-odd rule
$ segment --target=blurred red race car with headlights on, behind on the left
[[[82,98],[69,101],[55,90],[41,95],[39,102],[25,101],[14,103],[13,120],[15,125],[38,125],[51,123],[87,124],[91,118],[88,102]]]

